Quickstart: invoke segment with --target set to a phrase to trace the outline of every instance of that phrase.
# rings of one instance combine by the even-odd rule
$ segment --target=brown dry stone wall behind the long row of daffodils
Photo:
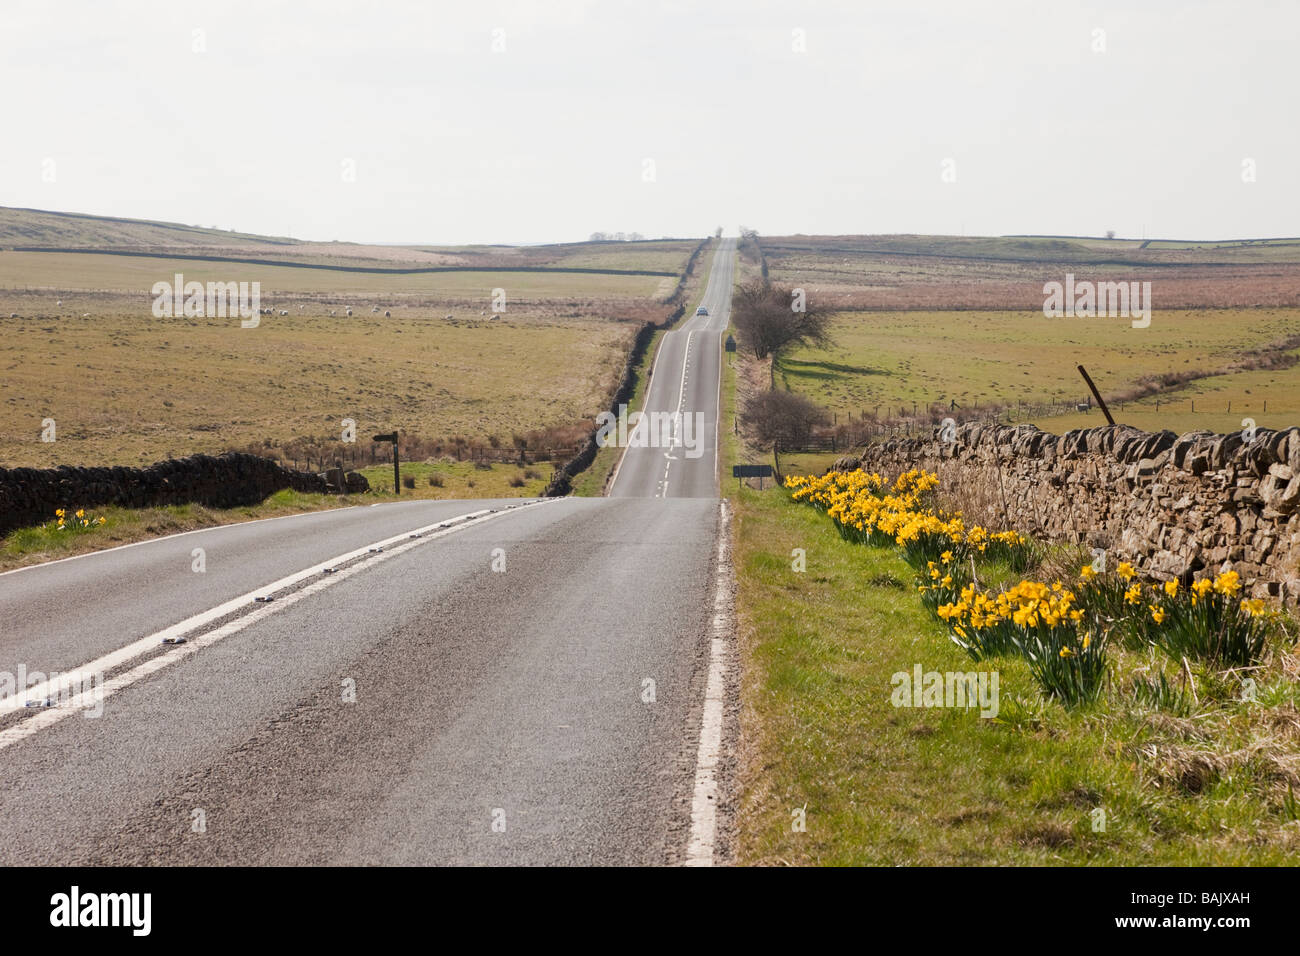
[[[950,437],[950,436],[949,436]],[[1149,433],[971,423],[954,441],[893,440],[841,459],[935,471],[1045,540],[1105,548],[1160,580],[1228,566],[1256,597],[1300,602],[1300,428]]]

